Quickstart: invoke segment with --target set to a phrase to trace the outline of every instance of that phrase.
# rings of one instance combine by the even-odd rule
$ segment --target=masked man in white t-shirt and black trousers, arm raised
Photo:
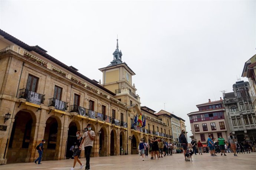
[[[87,131],[83,134],[83,140],[79,148],[81,148],[82,144],[85,146],[85,159],[86,159],[86,166],[85,169],[90,169],[90,154],[92,151],[93,140],[95,138],[95,132],[92,130],[91,124],[87,125]]]

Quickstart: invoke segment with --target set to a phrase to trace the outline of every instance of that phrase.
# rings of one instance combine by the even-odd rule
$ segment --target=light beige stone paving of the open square
[[[92,157],[91,170],[234,170],[243,169],[251,170],[256,167],[256,152],[248,154],[238,154],[234,157],[232,153],[227,153],[227,156],[212,157],[209,153],[203,155],[193,155],[193,162],[185,162],[183,154],[173,154],[173,156],[165,156],[159,160],[150,160],[146,157],[145,161],[138,159],[138,155],[122,155],[122,156],[108,156],[108,157]],[[82,159],[85,164],[85,159]],[[59,161],[42,161],[42,164],[35,163],[13,163],[1,165],[0,170],[69,170],[73,166],[73,159],[59,160]],[[80,165],[77,163],[75,169],[79,169]],[[83,167],[84,169],[85,167]]]

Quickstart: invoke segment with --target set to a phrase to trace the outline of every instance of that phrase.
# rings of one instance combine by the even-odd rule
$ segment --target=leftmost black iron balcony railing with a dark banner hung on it
[[[45,95],[29,91],[27,89],[20,89],[19,98],[26,99],[27,102],[35,103],[40,105],[40,103],[45,102]]]

